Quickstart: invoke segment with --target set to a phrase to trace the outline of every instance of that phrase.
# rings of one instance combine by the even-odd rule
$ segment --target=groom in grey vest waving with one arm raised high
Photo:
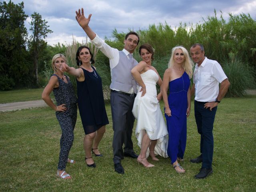
[[[114,169],[120,174],[124,174],[121,160],[124,156],[137,158],[132,144],[132,128],[134,116],[132,107],[136,96],[136,81],[132,77],[131,70],[138,62],[133,58],[132,53],[138,45],[140,38],[136,32],[129,32],[125,36],[124,49],[119,51],[110,47],[95,34],[88,26],[92,14],[86,18],[84,10],[76,11],[76,20],[83,28],[91,42],[99,48],[102,53],[109,58],[112,82],[110,85],[111,111],[113,121],[113,153]],[[124,150],[123,150],[124,144]]]

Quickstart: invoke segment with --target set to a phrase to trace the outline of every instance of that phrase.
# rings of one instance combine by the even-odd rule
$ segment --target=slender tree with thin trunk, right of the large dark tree
[[[36,85],[38,82],[38,61],[42,57],[44,50],[46,49],[47,42],[45,38],[47,34],[52,33],[52,30],[48,29],[50,26],[47,25],[47,21],[42,19],[42,16],[36,12],[31,15],[32,21],[30,22],[30,31],[32,35],[28,41],[30,54],[33,58],[34,63],[34,74],[36,79]]]

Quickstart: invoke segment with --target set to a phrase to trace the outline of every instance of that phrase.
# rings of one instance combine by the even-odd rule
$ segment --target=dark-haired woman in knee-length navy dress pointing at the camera
[[[92,154],[102,156],[98,145],[106,130],[108,116],[102,91],[102,80],[96,72],[92,53],[87,46],[80,46],[76,52],[79,68],[65,66],[65,71],[76,77],[78,108],[84,127],[85,161],[88,167],[96,167]]]

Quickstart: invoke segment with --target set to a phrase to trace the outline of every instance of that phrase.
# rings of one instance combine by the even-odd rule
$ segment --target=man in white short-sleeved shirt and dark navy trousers
[[[212,173],[214,118],[217,106],[228,91],[230,82],[220,64],[204,56],[204,47],[201,44],[192,45],[190,55],[196,63],[191,95],[195,93],[195,118],[198,133],[201,135],[201,155],[190,162],[202,162],[200,172],[195,175],[195,178],[202,179]]]

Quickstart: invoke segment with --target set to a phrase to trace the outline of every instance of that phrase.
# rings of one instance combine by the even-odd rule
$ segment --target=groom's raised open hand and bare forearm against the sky
[[[96,34],[92,31],[92,29],[88,25],[92,14],[89,14],[88,18],[86,18],[84,16],[84,9],[82,8],[81,10],[78,9],[78,11],[76,11],[76,20],[78,24],[83,28],[84,32],[86,32],[90,40],[93,40],[96,37]]]

